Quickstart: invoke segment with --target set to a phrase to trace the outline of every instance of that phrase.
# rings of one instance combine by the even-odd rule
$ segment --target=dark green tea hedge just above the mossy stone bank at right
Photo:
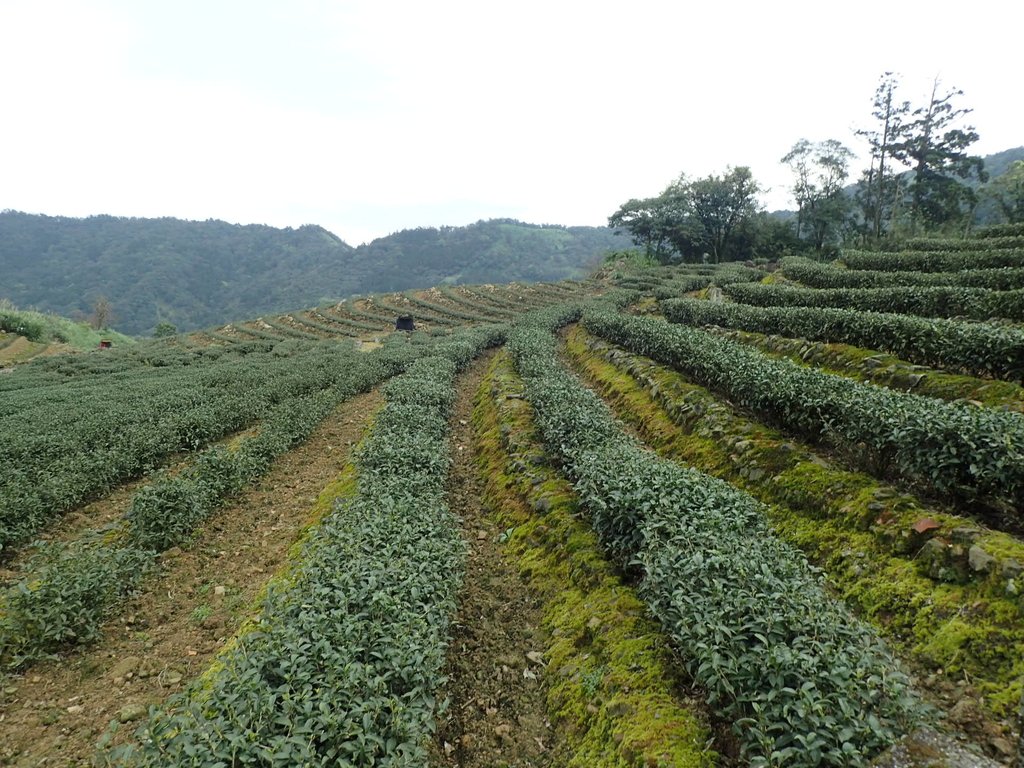
[[[714,335],[603,313],[588,330],[684,371],[798,436],[844,449],[933,493],[1024,508],[1024,418],[942,402],[801,368]]]

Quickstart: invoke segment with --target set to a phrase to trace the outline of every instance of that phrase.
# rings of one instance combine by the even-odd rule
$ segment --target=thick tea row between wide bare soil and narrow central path
[[[184,695],[155,712],[133,765],[418,766],[462,579],[444,503],[456,371],[502,339],[438,342],[386,387],[357,457],[358,487],[272,585],[253,631]],[[424,396],[426,393],[426,396]]]

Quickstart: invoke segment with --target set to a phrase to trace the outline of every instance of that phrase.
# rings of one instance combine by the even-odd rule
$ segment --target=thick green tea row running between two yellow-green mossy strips
[[[741,757],[866,765],[923,716],[905,674],[774,537],[757,502],[623,432],[557,362],[550,329],[562,321],[539,317],[509,340],[545,442],[602,542],[642,574],[641,595],[733,723]]]

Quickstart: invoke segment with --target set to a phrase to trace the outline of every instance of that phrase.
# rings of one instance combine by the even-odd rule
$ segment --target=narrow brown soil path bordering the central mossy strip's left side
[[[487,516],[473,461],[473,396],[489,355],[459,379],[452,418],[449,504],[469,546],[466,579],[449,648],[450,708],[439,724],[438,763],[445,768],[539,768],[551,765],[541,605],[502,551]]]

